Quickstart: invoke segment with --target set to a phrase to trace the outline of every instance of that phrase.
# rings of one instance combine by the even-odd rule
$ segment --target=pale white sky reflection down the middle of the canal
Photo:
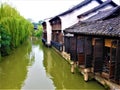
[[[35,62],[28,67],[28,75],[22,89],[54,89],[52,80],[46,76],[40,41],[32,41],[31,56]]]

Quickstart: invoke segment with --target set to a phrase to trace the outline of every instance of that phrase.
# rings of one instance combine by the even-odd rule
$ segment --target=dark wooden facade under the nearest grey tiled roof
[[[79,66],[93,68],[94,73],[112,82],[120,79],[120,39],[75,35],[66,37],[65,51]]]

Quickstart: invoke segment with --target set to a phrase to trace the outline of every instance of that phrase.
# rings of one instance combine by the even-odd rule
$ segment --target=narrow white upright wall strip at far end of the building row
[[[46,45],[48,47],[51,46],[51,25],[49,23],[49,20],[46,21],[47,23],[47,42],[46,42]]]

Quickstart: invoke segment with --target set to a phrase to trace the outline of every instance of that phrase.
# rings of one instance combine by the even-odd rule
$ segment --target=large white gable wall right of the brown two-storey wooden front
[[[72,13],[69,13],[67,15],[64,16],[60,16],[61,21],[62,21],[62,30],[64,30],[65,28],[68,28],[72,25],[74,25],[75,23],[77,23],[79,20],[77,18],[78,15],[82,14],[83,12],[86,12],[96,6],[98,6],[99,3],[96,1],[92,1],[91,3],[89,3],[86,6],[81,7],[80,9],[77,9],[75,11],[73,11]]]

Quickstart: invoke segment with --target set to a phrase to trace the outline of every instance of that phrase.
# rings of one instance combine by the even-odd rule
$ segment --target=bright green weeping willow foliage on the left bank
[[[1,53],[2,56],[9,54],[10,49],[22,44],[31,35],[33,30],[32,23],[22,17],[15,8],[8,4],[0,5],[0,25],[4,27],[4,29],[0,28],[3,33],[1,36],[1,48],[6,47]]]

